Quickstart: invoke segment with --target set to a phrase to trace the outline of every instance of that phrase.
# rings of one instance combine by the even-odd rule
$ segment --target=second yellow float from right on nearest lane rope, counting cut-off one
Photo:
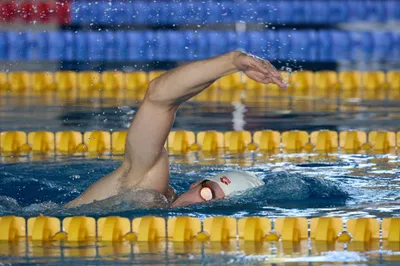
[[[347,232],[352,234],[353,242],[369,242],[379,239],[379,221],[374,218],[355,218],[347,221]]]

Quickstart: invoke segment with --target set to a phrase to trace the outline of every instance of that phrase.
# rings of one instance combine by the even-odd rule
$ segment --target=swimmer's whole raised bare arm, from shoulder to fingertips
[[[168,153],[165,141],[179,105],[222,76],[244,72],[261,83],[285,87],[279,72],[268,62],[241,52],[191,62],[150,82],[146,96],[128,130],[122,165],[91,185],[66,206],[91,203],[131,188],[147,188],[168,197]]]

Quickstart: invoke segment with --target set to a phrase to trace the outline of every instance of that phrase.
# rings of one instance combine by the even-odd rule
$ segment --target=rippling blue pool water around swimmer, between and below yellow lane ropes
[[[137,110],[136,101],[115,99],[77,101],[42,97],[9,97],[0,105],[0,131],[126,129]],[[271,104],[269,104],[271,103]],[[71,106],[71,104],[73,106]],[[255,131],[290,129],[335,131],[347,129],[396,130],[400,108],[393,103],[343,102],[301,99],[245,104],[237,115],[232,104],[188,103],[178,112],[174,129],[228,131],[244,126]],[[235,114],[236,112],[236,114]],[[178,194],[191,183],[215,173],[237,169],[253,172],[266,185],[242,195],[182,208],[140,209],[127,204],[106,208],[62,205],[81,194],[90,184],[112,172],[121,156],[30,155],[0,157],[0,216],[32,217],[40,214],[66,217],[119,215],[130,219],[145,215],[277,217],[400,217],[400,161],[395,152],[378,154],[261,154],[205,156],[190,152],[171,155],[171,185]],[[118,244],[88,242],[34,245],[1,243],[0,263],[78,264],[233,264],[290,263],[396,264],[400,247],[385,241],[365,246],[336,243],[324,246],[304,240],[296,244],[264,242],[249,244],[159,243]]]

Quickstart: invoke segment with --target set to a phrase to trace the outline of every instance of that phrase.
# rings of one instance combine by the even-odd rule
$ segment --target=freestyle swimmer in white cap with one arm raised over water
[[[258,187],[264,182],[254,174],[234,171],[217,174],[192,184],[176,198],[169,186],[169,160],[164,148],[180,104],[210,86],[217,79],[243,72],[257,82],[285,88],[280,73],[268,62],[243,52],[231,52],[191,62],[152,80],[128,131],[123,162],[119,168],[91,185],[66,204],[76,207],[117,197],[131,191],[134,198],[154,201],[143,191],[163,195],[172,207],[223,199],[236,192]],[[142,196],[143,195],[143,196]],[[154,206],[149,202],[149,206]]]

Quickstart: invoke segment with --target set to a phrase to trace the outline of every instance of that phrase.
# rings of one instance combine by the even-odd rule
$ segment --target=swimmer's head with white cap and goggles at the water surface
[[[172,204],[181,207],[204,201],[223,199],[236,192],[264,185],[264,182],[252,173],[244,171],[224,172],[207,177],[190,186]]]

